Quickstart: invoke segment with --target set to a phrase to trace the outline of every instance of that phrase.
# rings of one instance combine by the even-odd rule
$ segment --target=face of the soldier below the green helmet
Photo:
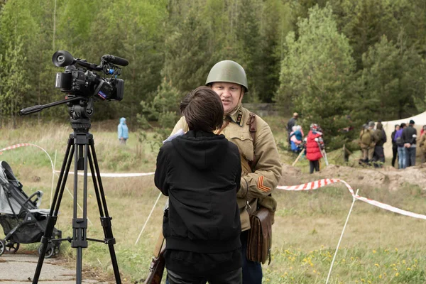
[[[212,89],[219,95],[222,105],[224,106],[225,114],[231,113],[244,96],[244,91],[240,84],[214,82],[212,84]]]

